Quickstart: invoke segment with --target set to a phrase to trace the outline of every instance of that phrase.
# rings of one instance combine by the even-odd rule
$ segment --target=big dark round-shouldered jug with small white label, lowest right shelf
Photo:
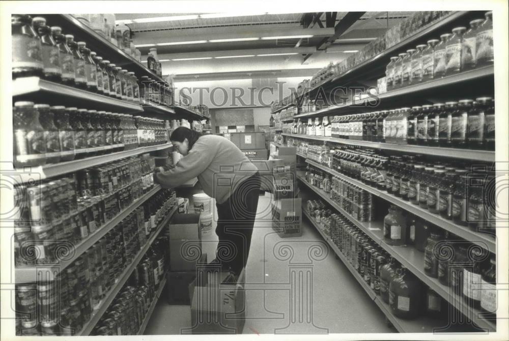
[[[401,267],[389,283],[389,305],[392,314],[402,319],[418,317],[422,304],[421,292],[420,280],[405,267]]]

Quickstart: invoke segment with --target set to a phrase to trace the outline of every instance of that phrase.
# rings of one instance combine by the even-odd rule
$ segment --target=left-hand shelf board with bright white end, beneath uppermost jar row
[[[16,78],[12,82],[12,96],[26,97],[36,94],[38,101],[52,105],[66,105],[84,107],[86,109],[109,110],[121,113],[134,113],[143,111],[139,104],[96,94],[54,83],[39,77]]]

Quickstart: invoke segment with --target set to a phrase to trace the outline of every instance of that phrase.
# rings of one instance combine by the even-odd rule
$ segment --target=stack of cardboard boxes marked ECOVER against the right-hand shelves
[[[297,186],[297,149],[295,147],[279,147],[273,159],[273,200],[272,228],[280,237],[302,236],[300,222],[302,220],[302,202],[298,198]]]

